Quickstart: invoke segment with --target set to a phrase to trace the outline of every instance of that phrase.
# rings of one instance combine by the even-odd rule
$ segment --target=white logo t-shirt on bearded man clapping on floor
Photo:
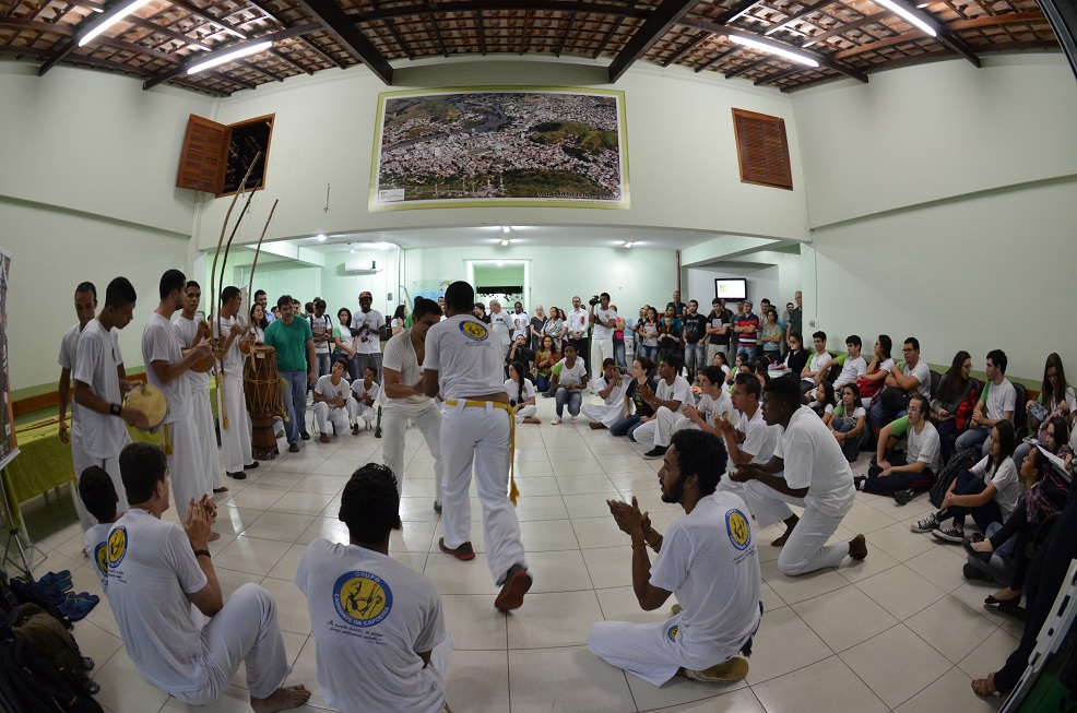
[[[673,521],[650,579],[684,607],[666,635],[690,658],[711,662],[707,665],[734,655],[756,630],[760,581],[748,508],[736,494],[723,491]]]

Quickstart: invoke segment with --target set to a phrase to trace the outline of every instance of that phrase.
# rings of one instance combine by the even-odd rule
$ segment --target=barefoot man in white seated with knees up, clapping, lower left
[[[225,694],[242,662],[257,713],[306,703],[306,688],[282,686],[292,667],[270,593],[244,584],[224,604],[206,549],[213,503],[191,499],[182,527],[162,521],[168,468],[150,443],[125,447],[120,477],[131,509],[108,533],[108,603],[142,675],[184,703],[205,705]],[[196,607],[210,617],[204,626]]]

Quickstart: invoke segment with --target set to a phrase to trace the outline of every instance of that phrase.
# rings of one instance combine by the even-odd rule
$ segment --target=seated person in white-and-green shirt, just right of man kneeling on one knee
[[[878,495],[893,495],[899,504],[909,502],[919,490],[926,490],[938,472],[938,431],[927,419],[927,399],[915,393],[909,413],[883,427],[867,477],[857,477],[856,489]],[[906,438],[904,455],[895,453],[898,441]]]

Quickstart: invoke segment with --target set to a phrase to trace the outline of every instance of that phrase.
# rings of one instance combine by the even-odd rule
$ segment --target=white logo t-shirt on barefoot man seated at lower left
[[[210,680],[202,614],[188,594],[205,574],[179,524],[128,510],[108,532],[108,604],[127,655],[168,693],[203,690]]]

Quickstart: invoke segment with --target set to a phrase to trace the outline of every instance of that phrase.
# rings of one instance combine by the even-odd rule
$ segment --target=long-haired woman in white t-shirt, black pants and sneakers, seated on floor
[[[980,532],[993,522],[1003,523],[1014,514],[1020,486],[1014,466],[1014,425],[1001,420],[991,429],[987,455],[968,471],[961,471],[943,497],[943,506],[912,526],[913,532],[930,532],[939,539],[959,543],[964,539],[964,518],[971,514]],[[954,520],[947,528],[944,522]]]

